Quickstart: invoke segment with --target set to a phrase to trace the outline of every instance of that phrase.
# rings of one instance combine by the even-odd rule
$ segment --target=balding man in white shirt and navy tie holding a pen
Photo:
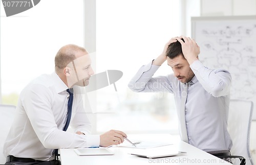
[[[93,74],[86,49],[73,44],[60,48],[55,56],[55,72],[39,76],[20,93],[4,145],[6,164],[60,164],[55,149],[107,147],[123,142],[127,135],[118,130],[90,135],[92,126],[78,86],[87,86]],[[74,133],[65,130],[72,95],[67,89],[73,91],[70,125]]]

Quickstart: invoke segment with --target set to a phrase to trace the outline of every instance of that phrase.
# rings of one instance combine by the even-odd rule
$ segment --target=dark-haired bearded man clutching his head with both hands
[[[189,37],[175,37],[153,62],[143,65],[129,83],[135,92],[174,94],[181,139],[209,153],[229,154],[227,131],[231,75],[199,61],[200,48]],[[173,74],[153,77],[167,60]]]

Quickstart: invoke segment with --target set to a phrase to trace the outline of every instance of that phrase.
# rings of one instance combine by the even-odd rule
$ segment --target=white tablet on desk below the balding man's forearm
[[[86,155],[114,155],[114,152],[107,148],[79,148],[75,149],[75,152],[79,156]]]

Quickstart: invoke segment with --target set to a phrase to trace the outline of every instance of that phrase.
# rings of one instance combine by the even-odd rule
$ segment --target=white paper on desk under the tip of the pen
[[[124,142],[124,143],[118,145],[118,147],[131,147],[131,148],[139,148],[139,149],[149,149],[149,148],[172,145],[171,143],[149,142],[149,141],[148,142],[147,141],[135,142],[134,144],[136,145],[136,147],[133,146],[130,143]]]

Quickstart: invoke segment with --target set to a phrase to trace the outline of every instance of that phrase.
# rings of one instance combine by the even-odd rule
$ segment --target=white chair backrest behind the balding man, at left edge
[[[16,107],[13,105],[0,104],[0,164],[6,162],[6,157],[3,154],[3,147],[14,119],[15,109]]]

